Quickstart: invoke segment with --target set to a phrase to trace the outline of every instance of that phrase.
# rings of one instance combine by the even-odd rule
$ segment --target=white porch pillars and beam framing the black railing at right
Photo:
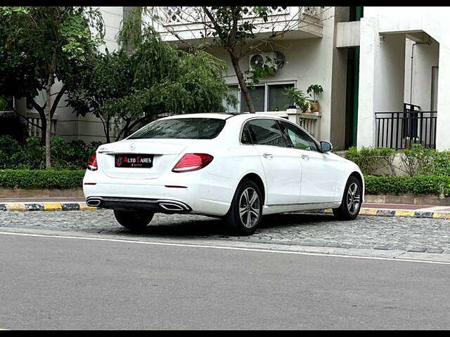
[[[375,80],[375,72],[380,69],[375,57],[380,48],[378,34],[423,31],[439,42],[437,149],[450,148],[450,137],[447,136],[450,113],[446,112],[450,95],[445,93],[446,88],[450,87],[449,18],[449,7],[364,7],[364,18],[361,18],[358,147],[374,145],[373,112],[380,93],[375,92],[372,82]],[[404,89],[402,90],[404,94]]]

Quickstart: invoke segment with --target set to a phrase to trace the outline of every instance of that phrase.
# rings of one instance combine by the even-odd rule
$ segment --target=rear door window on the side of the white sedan
[[[290,147],[275,119],[253,119],[248,122],[255,144]]]

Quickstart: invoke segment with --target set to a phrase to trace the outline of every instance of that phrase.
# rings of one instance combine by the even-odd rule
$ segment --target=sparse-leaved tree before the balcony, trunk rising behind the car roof
[[[275,46],[276,39],[283,37],[289,30],[312,24],[302,20],[302,7],[297,7],[297,13],[291,15],[290,20],[285,20],[284,17],[283,21],[273,18],[269,20],[269,15],[280,9],[285,10],[286,7],[254,6],[251,9],[248,6],[142,7],[137,8],[134,18],[129,18],[123,25],[120,39],[122,44],[133,44],[139,35],[142,22],[143,25],[153,27],[164,26],[169,34],[187,44],[189,48],[200,50],[210,46],[223,48],[229,54],[248,110],[255,113],[250,89],[259,82],[259,79],[274,72],[274,69],[262,65],[254,70],[243,70],[239,61],[249,53],[263,53],[263,47]],[[322,10],[327,11],[323,7]],[[150,22],[141,20],[143,15],[150,18]],[[193,44],[181,37],[179,32],[166,25],[167,19],[174,20],[178,24],[184,23],[185,30],[189,29],[188,25],[195,25],[195,29],[200,31],[200,39],[197,38],[197,42]],[[195,33],[191,34],[191,37],[195,37]]]

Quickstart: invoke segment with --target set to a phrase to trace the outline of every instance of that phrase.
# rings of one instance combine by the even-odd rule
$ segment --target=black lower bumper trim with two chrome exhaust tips
[[[192,211],[188,204],[170,199],[146,199],[128,197],[96,197],[86,198],[88,206],[103,209],[139,209],[158,213],[189,213]]]

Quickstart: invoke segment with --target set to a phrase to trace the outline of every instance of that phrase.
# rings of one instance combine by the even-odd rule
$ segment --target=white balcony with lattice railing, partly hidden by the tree
[[[329,9],[317,6],[271,6],[269,20],[264,22],[255,13],[254,6],[243,8],[243,20],[251,20],[257,26],[255,33],[262,39],[269,37],[272,32],[283,31],[286,32],[284,39],[321,38],[323,12]],[[205,26],[199,22],[210,22],[199,7],[155,7],[153,11],[160,18],[157,25],[153,22],[153,27],[165,41],[200,39],[205,36]]]

